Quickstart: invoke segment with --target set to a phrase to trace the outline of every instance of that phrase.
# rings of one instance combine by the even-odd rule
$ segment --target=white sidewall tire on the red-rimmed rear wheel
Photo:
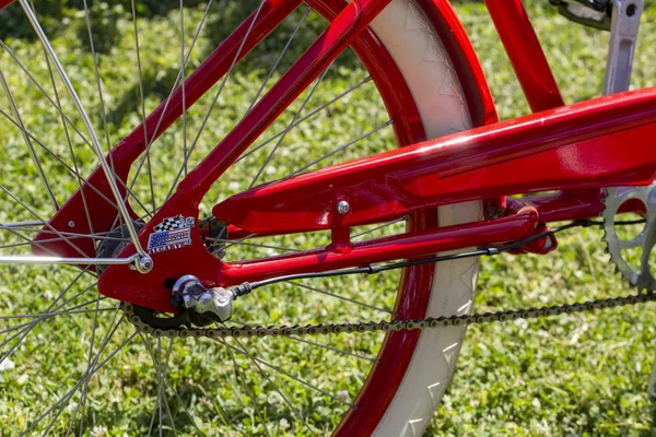
[[[460,82],[448,55],[421,8],[411,0],[393,2],[372,23],[414,97],[426,137],[471,128]],[[441,225],[482,217],[479,201],[438,209]],[[478,259],[435,264],[426,317],[471,311]],[[403,380],[374,436],[422,436],[454,375],[467,328],[423,330]]]

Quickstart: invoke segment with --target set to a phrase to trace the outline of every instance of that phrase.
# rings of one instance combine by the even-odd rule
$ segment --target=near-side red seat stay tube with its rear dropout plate
[[[154,226],[166,217],[181,214],[198,221],[198,204],[212,182],[368,25],[385,4],[376,0],[349,3],[248,115],[179,184],[172,198],[141,229],[139,238],[142,246],[148,247]],[[169,302],[169,292],[164,287],[166,279],[194,274],[204,280],[206,285],[220,284],[220,261],[203,249],[198,232],[191,234],[189,246],[173,252],[151,253],[154,268],[148,275],[126,265],[110,265],[98,282],[101,293],[161,311],[176,312]],[[121,256],[130,256],[133,250],[133,246],[128,245]]]

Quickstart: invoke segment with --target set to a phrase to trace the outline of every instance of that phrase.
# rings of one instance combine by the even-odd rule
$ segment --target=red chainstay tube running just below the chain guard
[[[242,263],[224,263],[220,281],[223,286],[230,286],[285,274],[325,272],[353,265],[421,257],[465,247],[514,241],[532,236],[538,220],[535,209],[524,208],[515,215],[496,220],[444,226],[437,229],[358,243],[345,251],[329,246],[323,250],[298,255],[271,257]]]

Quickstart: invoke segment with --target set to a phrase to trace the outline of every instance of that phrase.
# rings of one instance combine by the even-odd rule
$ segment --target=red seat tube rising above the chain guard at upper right
[[[564,102],[522,0],[485,0],[524,94],[534,113]]]

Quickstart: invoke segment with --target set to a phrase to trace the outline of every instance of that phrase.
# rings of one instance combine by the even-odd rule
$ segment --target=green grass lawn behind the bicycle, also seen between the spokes
[[[139,99],[139,71],[133,52],[132,22],[129,2],[107,7],[95,3],[92,10],[94,43],[99,52],[103,75],[106,120],[110,142],[125,137],[141,117]],[[605,50],[608,34],[589,31],[567,22],[555,14],[548,2],[526,1],[540,40],[544,45],[550,63],[567,103],[594,97],[601,90],[605,69]],[[139,9],[139,36],[142,49],[147,113],[152,110],[168,91],[179,66],[179,10],[177,2],[144,3]],[[204,4],[186,2],[186,42],[191,39],[195,26]],[[194,51],[188,72],[192,71],[215,45],[222,40],[236,22],[253,10],[255,1],[225,1],[220,12],[214,10]],[[456,2],[478,52],[502,118],[528,113],[528,106],[513,75],[509,62],[494,32],[484,7],[479,2]],[[67,71],[81,92],[85,107],[98,131],[103,131],[101,102],[93,73],[93,58],[89,52],[84,15],[80,4],[72,1],[39,4],[44,25]],[[301,11],[294,19],[298,19]],[[16,56],[26,63],[50,95],[52,85],[47,64],[38,44],[21,19],[19,8],[12,5],[0,15],[0,36]],[[221,140],[231,127],[248,109],[259,84],[267,76],[269,66],[276,60],[277,47],[293,29],[294,21],[284,23],[281,29],[246,58],[234,71],[224,93],[216,103],[198,142],[197,153],[190,166]],[[643,16],[641,42],[635,57],[634,80],[636,87],[654,85],[656,81],[656,12],[647,9]],[[284,70],[307,47],[323,22],[311,15],[296,38],[296,44],[283,58],[279,71]],[[168,42],[175,49],[171,49]],[[176,45],[177,44],[177,45]],[[0,68],[10,87],[17,93],[23,121],[35,137],[61,156],[68,157],[67,130],[58,113],[44,101],[39,91],[30,84],[28,78],[0,49]],[[347,52],[329,71],[308,108],[328,102],[366,76],[366,71],[355,57]],[[278,78],[276,75],[273,80]],[[273,83],[273,80],[269,83]],[[61,82],[56,81],[62,95],[62,107],[73,123],[82,130],[79,117],[69,98],[63,97]],[[214,91],[218,87],[214,88]],[[307,95],[307,93],[305,94]],[[305,96],[304,95],[304,96]],[[262,135],[284,129],[294,109],[300,108],[304,96],[292,106],[273,127]],[[189,113],[188,141],[201,126],[202,116],[209,109],[213,92],[203,97]],[[4,93],[0,93],[0,108],[10,111]],[[307,109],[306,109],[307,111]],[[262,180],[272,180],[298,168],[302,163],[319,156],[365,131],[385,122],[386,113],[373,86],[363,86],[348,97],[290,132],[281,146],[281,156],[272,161]],[[39,214],[48,216],[52,208],[44,196],[43,182],[32,164],[20,131],[2,120],[0,130],[0,182],[20,194]],[[93,169],[95,162],[87,147],[68,129],[73,140],[82,174]],[[375,153],[394,146],[394,134],[385,128],[374,137],[349,147],[344,153],[327,160],[323,165]],[[104,138],[102,139],[105,145]],[[154,201],[162,202],[173,181],[174,172],[183,154],[181,123],[166,132],[153,147],[151,165],[156,177],[153,180]],[[311,143],[313,150],[304,149]],[[36,146],[36,153],[45,153]],[[256,174],[259,163],[271,150],[255,154],[218,184],[201,205],[201,214],[209,213],[211,205],[231,193],[243,190]],[[70,158],[67,161],[70,163]],[[77,180],[63,166],[44,158],[46,170],[54,175],[54,193],[59,202],[75,189]],[[150,180],[145,173],[138,179],[137,193],[149,204]],[[5,200],[0,197],[0,199]],[[1,201],[0,201],[1,202]],[[15,221],[31,220],[28,213],[11,202],[0,203],[0,223],[9,217]],[[134,206],[138,213],[143,210]],[[4,239],[2,239],[4,238]],[[1,244],[20,243],[15,236],[0,234]],[[320,247],[329,241],[325,234],[279,237],[268,244],[289,245],[296,248]],[[564,304],[574,300],[609,297],[630,293],[621,279],[613,273],[608,256],[604,252],[601,234],[596,229],[571,232],[559,238],[560,247],[546,257],[503,255],[485,259],[482,263],[476,310],[489,311],[546,304]],[[17,248],[16,252],[23,252]],[[231,259],[248,259],[272,253],[271,249],[239,248],[229,251]],[[5,253],[2,253],[5,255]],[[49,268],[0,269],[0,314],[25,314],[44,311],[62,286],[77,275],[75,271]],[[397,274],[348,280],[312,282],[314,286],[343,293],[371,305],[391,307],[395,299],[394,285]],[[91,285],[92,279],[77,284],[67,296]],[[372,290],[378,293],[373,294]],[[342,320],[370,320],[383,317],[378,311],[341,305],[340,300],[323,295],[308,294],[302,288],[280,286],[271,288],[273,298],[258,295],[257,299],[238,303],[239,318],[248,322],[308,323]],[[280,298],[283,296],[283,298]],[[95,288],[73,299],[68,307],[96,298]],[[102,306],[109,306],[103,302]],[[112,321],[113,312],[98,321],[102,338]],[[12,356],[14,368],[0,371],[0,435],[19,435],[40,412],[73,387],[86,368],[86,354],[91,343],[92,316],[59,317],[44,321],[31,333]],[[15,320],[0,319],[0,330],[16,326]],[[604,312],[564,316],[531,322],[495,323],[472,327],[467,334],[456,377],[447,391],[427,435],[653,435],[654,408],[646,395],[646,383],[655,358],[654,306],[606,310]],[[109,341],[108,352],[131,334],[129,326],[121,324]],[[0,342],[8,338],[0,334]],[[102,339],[95,339],[94,349]],[[347,335],[312,339],[332,347],[375,355],[380,335]],[[10,345],[13,342],[10,342]],[[231,344],[236,345],[232,342]],[[256,351],[257,356],[308,382],[329,388],[349,398],[366,377],[371,364],[349,356],[329,353],[325,349],[311,347],[285,339],[272,341],[249,340],[244,344]],[[238,345],[236,345],[238,346]],[[162,341],[161,353],[166,354],[167,341]],[[157,400],[157,379],[153,375],[151,352],[159,354],[156,341],[137,341],[120,352],[92,378],[86,402],[85,435],[122,436],[149,433],[153,410]],[[1,351],[7,350],[1,349]],[[103,355],[103,359],[107,353]],[[241,370],[235,371],[237,367]],[[178,435],[196,434],[185,412],[187,406],[201,429],[208,435],[266,435],[263,416],[273,435],[307,435],[303,424],[295,421],[276,387],[283,388],[286,395],[301,405],[302,414],[319,430],[329,429],[338,421],[337,412],[343,404],[336,399],[318,394],[314,390],[290,381],[272,373],[271,380],[261,376],[253,363],[243,355],[226,352],[225,347],[207,341],[178,341],[173,345],[167,367],[171,385],[178,397],[168,393],[168,408]],[[74,414],[78,395],[70,406],[63,409],[61,421],[52,435],[66,435],[68,422]],[[253,399],[266,404],[256,411]],[[78,416],[79,417],[79,416]],[[46,421],[47,423],[47,421]],[[165,415],[165,434],[173,435]],[[42,432],[44,427],[37,428]],[[92,430],[95,429],[95,430]],[[152,435],[159,433],[152,430]]]

